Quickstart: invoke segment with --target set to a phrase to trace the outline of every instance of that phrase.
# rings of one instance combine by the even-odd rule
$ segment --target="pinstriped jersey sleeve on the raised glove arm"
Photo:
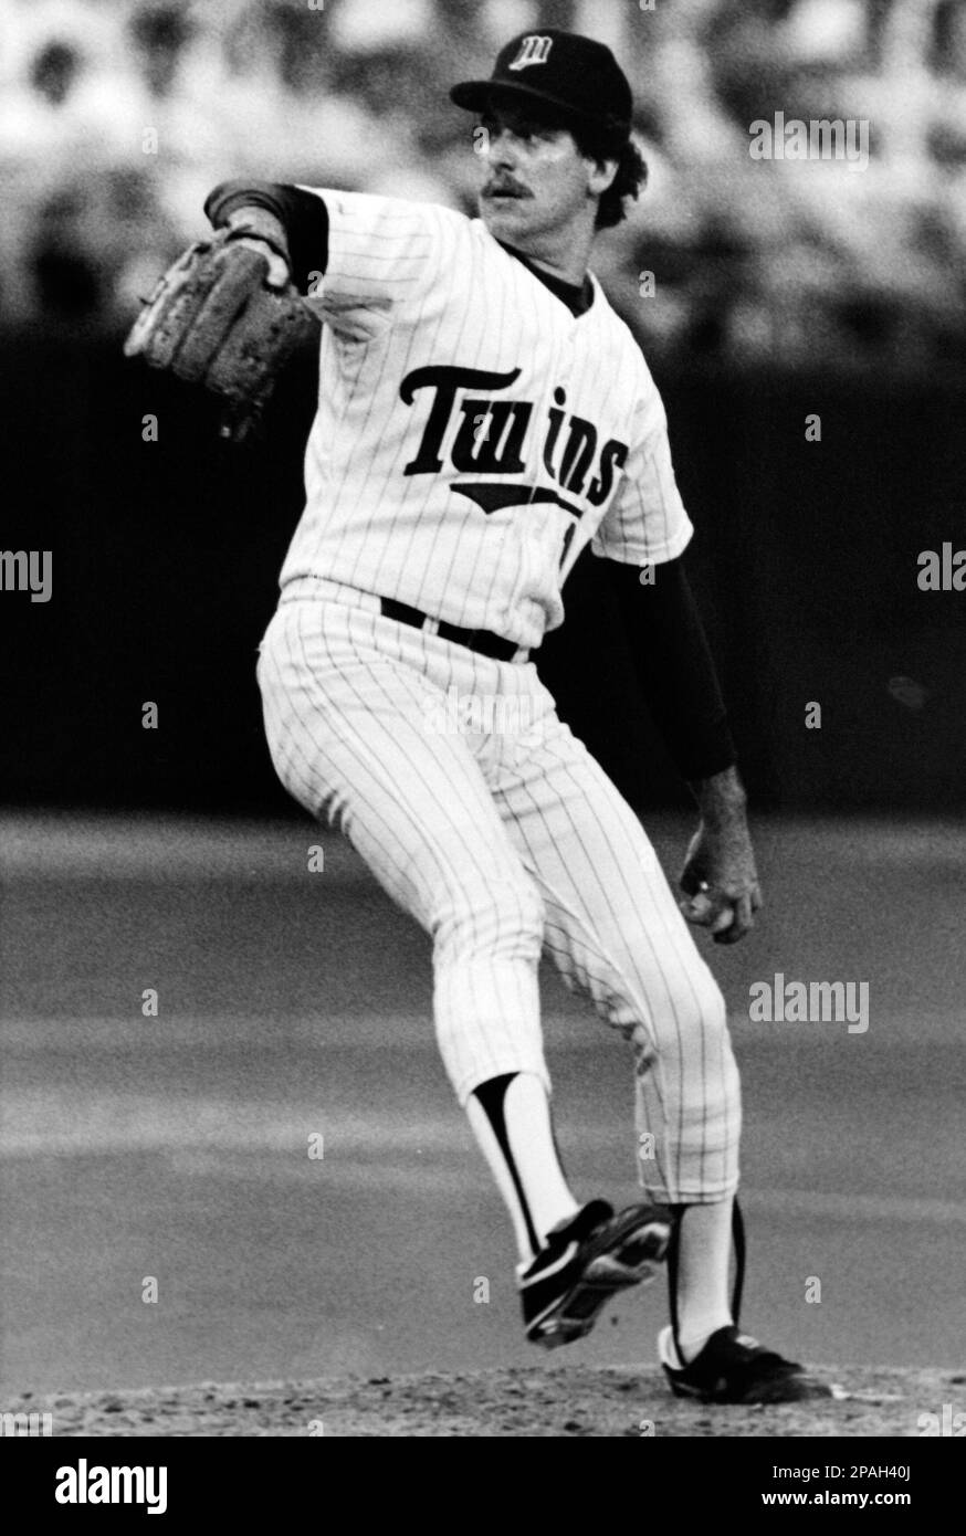
[[[458,215],[430,203],[299,187],[326,204],[326,270],[312,273],[309,303],[338,329],[339,318],[392,309],[436,281]]]

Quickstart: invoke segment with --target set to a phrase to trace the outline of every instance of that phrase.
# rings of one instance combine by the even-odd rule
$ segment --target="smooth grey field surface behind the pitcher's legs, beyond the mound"
[[[686,826],[648,826],[674,872]],[[310,874],[298,822],[11,814],[0,837],[0,1405],[541,1362],[436,1057],[427,940],[342,843]],[[961,1369],[961,828],[765,819],[757,845],[762,923],[711,949],[745,1083],[745,1322],[800,1359]],[[868,982],[868,1032],[749,1023],[779,971]],[[625,1048],[551,975],[544,997],[571,1181],[630,1200]],[[659,1283],[567,1367],[651,1362],[662,1322]]]

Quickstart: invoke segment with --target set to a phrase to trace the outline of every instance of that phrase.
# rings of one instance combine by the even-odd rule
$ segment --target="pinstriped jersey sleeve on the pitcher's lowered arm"
[[[662,565],[688,547],[694,528],[674,479],[665,409],[647,367],[636,419],[617,495],[591,550],[622,565]]]

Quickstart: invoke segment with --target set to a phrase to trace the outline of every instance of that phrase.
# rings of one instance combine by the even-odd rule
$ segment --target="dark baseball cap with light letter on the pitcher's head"
[[[564,120],[627,138],[634,98],[627,75],[604,43],[547,26],[521,32],[496,55],[488,80],[464,80],[450,100],[484,112],[495,91],[554,108]]]

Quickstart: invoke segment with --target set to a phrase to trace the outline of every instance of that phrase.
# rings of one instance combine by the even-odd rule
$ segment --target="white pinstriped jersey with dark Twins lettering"
[[[590,542],[631,564],[688,544],[654,381],[590,275],[573,315],[479,218],[304,187],[329,261],[306,508],[283,587],[313,574],[539,645]]]

